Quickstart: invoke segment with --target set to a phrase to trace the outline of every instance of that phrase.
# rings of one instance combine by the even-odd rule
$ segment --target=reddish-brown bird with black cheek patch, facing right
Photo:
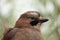
[[[9,28],[4,34],[2,40],[43,40],[39,28],[47,21],[48,19],[44,19],[37,11],[24,12],[16,21],[15,26]]]

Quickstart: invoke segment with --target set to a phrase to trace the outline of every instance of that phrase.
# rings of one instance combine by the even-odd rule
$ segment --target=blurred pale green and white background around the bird
[[[0,0],[0,40],[5,26],[14,27],[20,15],[30,10],[49,19],[41,27],[44,40],[60,40],[60,0]]]

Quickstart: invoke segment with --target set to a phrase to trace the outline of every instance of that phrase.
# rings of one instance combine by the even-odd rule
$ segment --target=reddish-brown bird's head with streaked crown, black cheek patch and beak
[[[48,19],[43,19],[39,12],[28,11],[21,15],[21,17],[17,20],[15,27],[33,27],[37,24],[41,25],[47,21]]]

